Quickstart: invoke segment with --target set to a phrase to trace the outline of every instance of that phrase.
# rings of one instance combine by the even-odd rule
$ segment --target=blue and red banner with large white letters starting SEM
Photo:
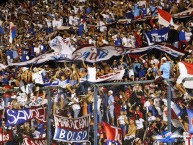
[[[6,126],[14,126],[23,124],[32,118],[36,118],[40,121],[45,120],[45,108],[27,108],[27,109],[6,109]]]

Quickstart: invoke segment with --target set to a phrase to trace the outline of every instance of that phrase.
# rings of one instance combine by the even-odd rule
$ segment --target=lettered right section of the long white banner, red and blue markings
[[[157,49],[159,51],[168,53],[174,57],[183,56],[184,53],[179,49],[171,46],[171,45],[152,45],[148,47],[142,48],[124,48],[118,46],[101,46],[100,48],[96,48],[93,45],[85,45],[81,48],[75,50],[72,54],[73,60],[85,60],[87,62],[98,62],[103,60],[108,60],[112,56],[120,56],[123,54],[137,54],[137,53],[145,53],[146,51]]]

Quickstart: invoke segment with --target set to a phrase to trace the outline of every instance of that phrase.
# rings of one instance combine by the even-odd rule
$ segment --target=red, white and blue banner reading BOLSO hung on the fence
[[[89,140],[90,116],[67,118],[54,115],[54,140],[62,142],[85,142]]]

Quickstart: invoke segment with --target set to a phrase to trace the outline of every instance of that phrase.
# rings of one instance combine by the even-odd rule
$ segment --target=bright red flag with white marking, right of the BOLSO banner
[[[106,133],[106,139],[115,141],[115,140],[122,140],[122,129],[119,127],[115,127],[113,125],[110,125],[106,122],[102,122],[105,133]]]

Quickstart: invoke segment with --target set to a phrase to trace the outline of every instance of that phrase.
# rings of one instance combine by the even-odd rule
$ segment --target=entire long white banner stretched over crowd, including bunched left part
[[[142,48],[128,48],[121,46],[113,46],[113,45],[104,45],[99,48],[96,48],[94,45],[86,44],[80,48],[73,48],[70,46],[67,40],[62,39],[62,37],[57,36],[50,42],[51,48],[54,52],[42,54],[38,57],[35,57],[29,61],[12,63],[9,66],[26,66],[29,64],[41,64],[47,61],[60,61],[64,59],[70,60],[85,60],[87,62],[98,62],[103,60],[108,60],[112,56],[120,56],[123,54],[137,54],[140,55],[146,53],[149,50],[157,49],[159,51],[168,53],[174,57],[183,56],[184,53],[173,47],[172,45],[159,44],[159,45],[151,45],[148,47]],[[0,64],[0,70],[6,68],[7,66]]]

